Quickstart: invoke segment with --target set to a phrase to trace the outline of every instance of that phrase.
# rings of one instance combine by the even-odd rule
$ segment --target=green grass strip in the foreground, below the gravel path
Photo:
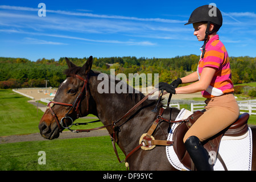
[[[118,149],[119,157],[125,158]],[[2,171],[121,171],[109,136],[0,144]],[[46,164],[39,164],[39,151]]]

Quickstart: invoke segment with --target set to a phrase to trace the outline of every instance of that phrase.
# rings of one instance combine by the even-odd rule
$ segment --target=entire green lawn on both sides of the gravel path
[[[0,137],[39,133],[38,123],[43,112],[38,110],[37,113],[36,106],[29,104],[28,100],[11,90],[0,90]],[[93,120],[81,119],[80,122]],[[256,125],[256,115],[250,116],[249,124]],[[102,126],[102,123],[76,126],[76,129],[97,126]],[[117,149],[120,158],[124,159],[122,151]],[[45,165],[38,164],[39,151],[46,152]],[[126,169],[125,164],[118,163],[109,136],[0,144],[0,164],[2,171]]]

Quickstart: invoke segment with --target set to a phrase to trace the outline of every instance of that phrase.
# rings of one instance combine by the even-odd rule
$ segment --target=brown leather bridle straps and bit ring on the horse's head
[[[49,108],[49,110],[51,111],[52,117],[55,119],[57,126],[59,127],[59,130],[61,132],[62,129],[69,129],[72,125],[73,125],[73,119],[71,117],[68,116],[69,112],[75,108],[75,111],[77,113],[77,118],[79,118],[81,115],[79,113],[79,106],[80,106],[80,102],[81,102],[81,98],[82,98],[82,93],[84,92],[85,89],[85,96],[86,96],[86,111],[89,110],[89,93],[88,93],[88,88],[87,88],[87,84],[88,84],[88,80],[89,80],[89,73],[86,77],[86,79],[80,77],[79,75],[69,75],[75,78],[79,78],[79,80],[84,81],[84,85],[82,85],[82,89],[80,90],[79,94],[76,97],[76,100],[73,102],[73,104],[67,104],[67,103],[63,103],[63,102],[55,102],[55,101],[51,101],[47,104],[47,107]],[[57,118],[57,115],[54,113],[54,111],[52,110],[53,105],[61,105],[61,106],[67,106],[67,107],[71,107],[68,110],[68,113],[65,114],[65,116],[63,118],[61,118],[60,122],[59,119]],[[65,122],[64,126],[64,120],[67,121],[67,119],[71,120],[71,125],[67,126],[67,122]]]

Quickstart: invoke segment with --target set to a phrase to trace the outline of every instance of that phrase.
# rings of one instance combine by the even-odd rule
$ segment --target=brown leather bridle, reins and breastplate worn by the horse
[[[147,96],[145,96],[141,101],[139,101],[136,105],[134,105],[129,111],[127,111],[127,113],[125,115],[123,115],[121,118],[119,118],[117,121],[113,121],[111,124],[109,125],[104,125],[104,126],[100,126],[100,127],[96,127],[94,129],[87,129],[87,130],[72,130],[70,129],[71,126],[73,125],[87,125],[88,123],[93,123],[93,122],[100,122],[100,120],[96,120],[96,121],[92,121],[92,122],[86,122],[86,123],[73,123],[73,119],[71,117],[68,116],[69,112],[72,110],[72,109],[75,109],[75,111],[77,112],[77,118],[79,118],[81,115],[79,113],[79,106],[80,106],[80,102],[81,102],[81,99],[82,99],[82,94],[85,90],[85,96],[86,96],[86,111],[89,110],[89,91],[88,91],[88,80],[89,80],[89,73],[86,77],[86,79],[80,77],[79,75],[69,75],[69,76],[72,76],[72,77],[76,77],[78,78],[79,80],[81,81],[84,81],[84,85],[82,86],[82,89],[80,90],[78,96],[76,97],[75,101],[72,103],[72,104],[67,104],[67,103],[63,103],[63,102],[55,102],[55,101],[51,101],[47,104],[47,107],[48,109],[51,111],[51,114],[52,114],[52,117],[55,119],[56,123],[57,123],[57,126],[59,127],[59,130],[60,130],[60,133],[63,129],[68,129],[70,131],[72,131],[73,133],[81,133],[81,132],[90,132],[90,131],[93,131],[93,130],[99,130],[99,129],[103,129],[103,128],[106,128],[106,127],[109,127],[111,126],[112,129],[113,129],[113,133],[110,135],[110,138],[112,140],[112,144],[113,144],[113,148],[114,148],[114,152],[115,152],[115,155],[117,156],[117,159],[119,161],[119,163],[122,163],[122,162],[126,162],[128,158],[130,158],[130,156],[132,154],[134,154],[135,151],[137,151],[139,148],[141,147],[150,147],[150,146],[153,146],[153,145],[162,145],[162,146],[169,146],[170,144],[173,144],[173,141],[168,141],[168,140],[152,140],[152,133],[154,132],[154,130],[156,129],[156,127],[158,126],[158,123],[160,121],[164,121],[164,122],[168,122],[168,123],[174,123],[174,122],[187,122],[185,119],[183,120],[180,120],[180,121],[171,121],[171,118],[170,119],[164,119],[162,117],[162,114],[163,114],[163,111],[164,109],[163,108],[160,108],[160,111],[159,111],[159,115],[156,117],[156,120],[154,121],[154,123],[152,124],[152,126],[150,127],[150,130],[148,130],[147,134],[142,138],[142,142],[137,146],[135,147],[131,152],[129,152],[129,154],[126,155],[126,158],[124,160],[120,160],[119,159],[119,156],[118,156],[118,152],[117,152],[117,149],[115,147],[115,143],[117,143],[117,140],[116,140],[116,132],[118,130],[118,127],[116,126],[116,124],[121,121],[122,119],[126,118],[127,116],[129,116],[131,114],[131,112],[133,110],[135,110],[139,105],[141,105],[145,100],[147,100],[148,97],[150,97],[152,94],[154,94],[156,91],[158,91],[158,89],[154,89],[152,90],[152,92],[148,93]],[[163,93],[163,90],[161,91],[160,93],[160,97],[159,97],[159,101],[161,100],[162,96],[164,94],[167,94],[167,92],[164,92]],[[170,94],[170,97],[168,98],[168,103],[167,103],[167,107],[169,106],[170,104],[170,100],[171,100],[171,94]],[[158,103],[159,103],[158,101]],[[71,107],[69,110],[68,110],[68,113],[65,114],[65,116],[63,118],[61,118],[60,122],[59,122],[59,119],[57,118],[57,115],[54,113],[52,107],[53,105],[61,105],[61,106],[67,106],[67,107]],[[156,107],[157,107],[158,104],[156,104]],[[154,112],[156,112],[155,110],[157,109],[155,107]],[[70,126],[67,126],[67,122],[64,122],[64,119],[70,119],[71,120],[71,125]],[[65,125],[65,126],[64,126]],[[126,166],[127,167],[127,166]],[[128,167],[127,167],[128,169]]]

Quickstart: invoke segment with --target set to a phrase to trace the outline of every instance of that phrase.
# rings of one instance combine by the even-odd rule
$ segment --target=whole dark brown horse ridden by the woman
[[[138,146],[142,134],[147,133],[152,122],[158,117],[162,104],[159,103],[158,112],[155,113],[152,110],[155,108],[157,101],[145,100],[127,117],[121,118],[145,96],[142,93],[135,92],[99,93],[98,85],[102,82],[102,79],[98,79],[100,73],[91,70],[92,56],[82,67],[77,67],[68,59],[66,60],[69,67],[65,71],[67,79],[60,84],[54,101],[48,105],[49,109],[46,110],[39,123],[40,134],[47,139],[57,138],[64,127],[68,128],[77,116],[85,117],[88,114],[94,114],[106,126],[109,134],[115,135],[115,140],[123,153],[125,155],[130,154]],[[115,81],[116,84],[118,84],[118,81]],[[127,90],[131,89],[128,87]],[[176,108],[167,108],[162,116],[174,121],[179,111]],[[115,123],[115,127],[112,127],[113,123]],[[168,122],[159,122],[153,133],[154,138],[166,140],[171,125]],[[254,151],[256,150],[256,128],[251,128],[251,130]],[[176,170],[168,162],[165,146],[156,146],[154,149],[147,151],[138,149],[127,159],[127,162],[130,170]],[[255,169],[256,154],[253,152],[252,170]]]

